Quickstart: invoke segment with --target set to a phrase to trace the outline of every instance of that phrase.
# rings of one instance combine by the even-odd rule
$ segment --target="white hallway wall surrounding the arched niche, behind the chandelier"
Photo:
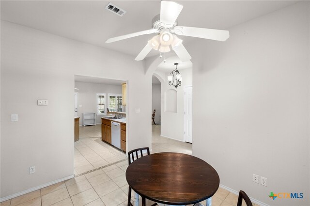
[[[179,72],[182,75],[181,86],[175,89],[167,81],[161,84],[161,135],[183,141],[183,93],[184,86],[192,85],[192,69],[182,69]],[[167,79],[169,74],[170,72],[166,73],[162,78]],[[165,112],[165,92],[169,89],[177,91],[177,112]]]

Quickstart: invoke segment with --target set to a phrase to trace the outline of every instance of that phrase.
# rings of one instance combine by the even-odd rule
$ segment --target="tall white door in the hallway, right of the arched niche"
[[[183,140],[185,142],[193,142],[193,87],[184,87],[184,133]]]

